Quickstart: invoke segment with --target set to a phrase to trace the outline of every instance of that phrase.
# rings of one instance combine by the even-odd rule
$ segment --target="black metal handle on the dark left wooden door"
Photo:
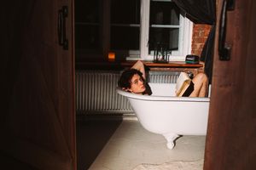
[[[58,38],[59,44],[63,49],[68,49],[68,40],[66,37],[66,18],[67,18],[67,6],[63,6],[58,11]]]

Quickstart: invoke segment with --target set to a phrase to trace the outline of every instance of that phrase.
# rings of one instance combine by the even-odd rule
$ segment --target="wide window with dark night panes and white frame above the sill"
[[[191,51],[192,24],[172,0],[76,0],[76,54],[115,52],[117,58],[153,59],[157,44],[184,60]]]

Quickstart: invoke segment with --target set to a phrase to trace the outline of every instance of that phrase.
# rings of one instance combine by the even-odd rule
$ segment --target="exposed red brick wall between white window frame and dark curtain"
[[[192,47],[191,54],[201,56],[201,50],[204,47],[205,42],[211,26],[197,24],[193,26],[193,35],[192,35]]]

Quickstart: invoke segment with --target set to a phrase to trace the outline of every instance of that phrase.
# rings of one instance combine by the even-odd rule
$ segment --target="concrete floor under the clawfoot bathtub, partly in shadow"
[[[172,169],[190,161],[198,162],[193,169],[202,169],[205,136],[183,136],[169,150],[162,135],[148,132],[135,119],[87,120],[78,127],[79,170],[147,169],[142,166],[174,161],[179,164]]]

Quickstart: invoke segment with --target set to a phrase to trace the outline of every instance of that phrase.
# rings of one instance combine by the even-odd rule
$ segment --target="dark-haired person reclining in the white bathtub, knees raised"
[[[204,73],[198,73],[193,79],[194,91],[189,97],[206,97],[208,78]],[[151,95],[151,89],[146,82],[145,68],[141,60],[138,60],[129,70],[122,73],[118,82],[119,88],[134,94]]]

